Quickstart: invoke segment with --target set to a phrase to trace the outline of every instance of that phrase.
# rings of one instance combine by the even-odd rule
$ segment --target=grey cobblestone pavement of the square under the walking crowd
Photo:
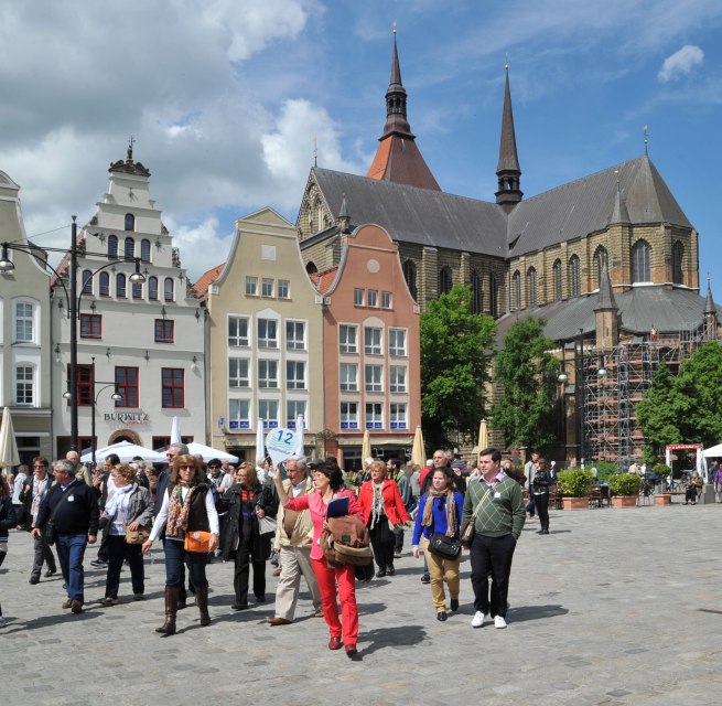
[[[722,506],[552,512],[551,534],[528,521],[517,546],[506,630],[470,625],[467,555],[459,613],[435,620],[420,561],[358,587],[359,654],[330,652],[302,593],[292,625],[273,603],[234,612],[233,565],[208,567],[213,624],[195,607],[179,633],[163,613],[163,554],[147,560],[147,600],[104,608],[105,569],[86,554],[86,609],[61,609],[62,579],[28,582],[31,541],[11,532],[0,569],[4,704],[660,704],[722,700]],[[276,579],[269,575],[268,597]]]

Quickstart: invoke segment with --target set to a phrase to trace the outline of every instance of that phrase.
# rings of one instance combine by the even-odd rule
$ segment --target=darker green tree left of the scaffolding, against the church
[[[506,447],[546,449],[554,443],[552,409],[559,361],[543,334],[543,319],[516,321],[504,336],[494,362],[494,382],[503,386],[492,407],[492,426],[504,434]]]

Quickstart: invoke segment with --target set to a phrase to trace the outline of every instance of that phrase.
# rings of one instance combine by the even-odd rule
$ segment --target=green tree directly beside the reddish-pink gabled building
[[[471,289],[457,285],[421,314],[421,416],[430,447],[475,435],[485,416],[496,323],[472,313],[471,302]]]

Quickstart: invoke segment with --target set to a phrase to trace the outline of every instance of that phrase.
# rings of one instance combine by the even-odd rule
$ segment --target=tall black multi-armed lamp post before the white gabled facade
[[[73,223],[71,225],[71,247],[67,250],[55,247],[31,247],[30,245],[22,243],[3,243],[2,244],[2,254],[0,256],[0,275],[7,275],[12,272],[15,269],[13,261],[10,259],[10,250],[17,250],[19,253],[25,253],[34,257],[43,267],[46,267],[51,270],[57,278],[57,282],[63,287],[65,291],[65,297],[67,299],[67,309],[68,318],[71,320],[71,370],[68,375],[68,386],[67,392],[64,393],[64,397],[68,397],[71,403],[71,450],[78,450],[78,400],[77,400],[77,322],[79,319],[79,309],[80,309],[80,299],[83,299],[83,293],[85,287],[80,288],[80,293],[77,293],[77,259],[78,254],[82,253],[84,256],[91,255],[97,257],[108,257],[108,253],[89,253],[85,248],[78,248],[77,246],[77,223],[76,216],[72,216]],[[63,281],[63,275],[55,269],[41,253],[62,253],[63,255],[69,255],[71,260],[71,288],[69,290]],[[111,261],[98,267],[97,269],[90,272],[90,278],[97,275],[99,271],[112,267],[116,261],[125,263],[134,263],[136,271],[128,277],[128,280],[132,285],[142,285],[146,281],[144,275],[140,271],[140,258],[139,257],[114,257]],[[85,285],[85,282],[84,282]],[[115,383],[111,383],[115,384]],[[95,424],[95,415],[94,415]]]

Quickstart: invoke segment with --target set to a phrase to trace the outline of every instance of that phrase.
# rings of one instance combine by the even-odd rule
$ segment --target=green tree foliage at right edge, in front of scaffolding
[[[655,460],[668,443],[720,443],[720,389],[722,347],[715,341],[701,345],[681,364],[676,377],[660,365],[651,388],[637,405],[637,419],[647,439],[645,460]]]

